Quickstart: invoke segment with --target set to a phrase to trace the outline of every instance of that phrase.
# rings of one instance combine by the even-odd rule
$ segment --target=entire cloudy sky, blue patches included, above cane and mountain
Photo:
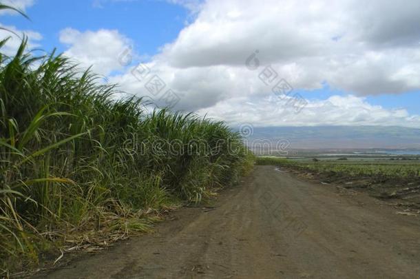
[[[109,81],[139,96],[148,93],[130,71],[143,62],[177,92],[180,109],[231,123],[249,118],[255,125],[419,125],[420,33],[415,28],[403,38],[401,32],[392,33],[395,26],[404,28],[406,20],[414,27],[420,23],[414,19],[417,1],[408,1],[405,8],[373,1],[368,19],[363,9],[349,8],[344,0],[333,8],[323,0],[308,8],[283,2],[291,8],[282,15],[284,9],[274,0],[266,5],[239,0],[15,0],[31,21],[3,13],[0,22],[19,32],[31,30],[32,45],[48,52],[57,48],[81,65],[94,65]],[[338,22],[334,14],[342,10],[348,18]],[[317,25],[306,18],[317,19]],[[367,23],[375,29],[368,30]],[[128,46],[135,58],[122,67],[116,59]],[[297,116],[280,110],[258,72],[246,70],[244,61],[255,49],[262,66],[272,65],[308,101],[306,112]]]

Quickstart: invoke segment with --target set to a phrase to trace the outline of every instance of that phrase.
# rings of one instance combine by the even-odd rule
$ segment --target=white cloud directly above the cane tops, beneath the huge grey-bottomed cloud
[[[150,70],[144,79],[133,74],[134,67],[125,74],[110,77],[109,82],[118,83],[121,90],[130,94],[158,99],[160,96],[151,94],[145,88],[149,79],[158,76],[165,83],[165,89],[162,91],[171,89],[180,97],[176,106],[178,110],[194,111],[202,107],[211,107],[234,96],[248,94],[249,80],[253,78],[255,79],[251,83],[255,84],[255,88],[264,90],[264,84],[255,73],[246,69],[239,72],[225,66],[176,69],[159,61],[140,65],[145,65]],[[241,82],[240,78],[244,81]]]

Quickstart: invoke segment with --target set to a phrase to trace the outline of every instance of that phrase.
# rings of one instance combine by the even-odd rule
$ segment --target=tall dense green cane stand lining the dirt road
[[[141,99],[116,100],[114,85],[25,46],[0,54],[2,269],[36,264],[79,232],[146,231],[148,212],[198,203],[251,169],[253,155],[224,123],[146,113]]]

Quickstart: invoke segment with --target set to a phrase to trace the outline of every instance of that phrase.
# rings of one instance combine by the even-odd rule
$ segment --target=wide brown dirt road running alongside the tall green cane
[[[216,207],[81,256],[48,278],[420,278],[420,219],[365,194],[256,167]]]

